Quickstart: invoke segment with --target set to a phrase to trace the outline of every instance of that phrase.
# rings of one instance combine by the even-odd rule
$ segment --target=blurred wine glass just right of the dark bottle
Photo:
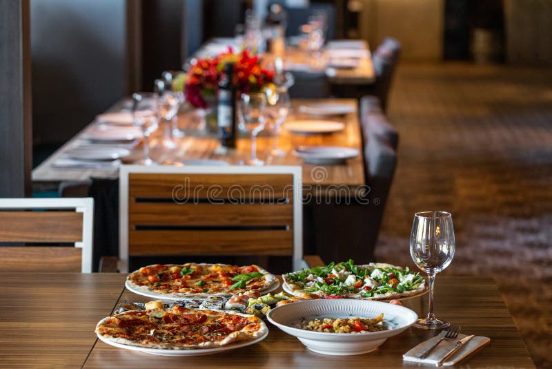
[[[251,135],[251,158],[249,165],[263,165],[257,158],[257,134],[264,129],[266,122],[266,95],[264,93],[242,93],[239,100],[239,113],[242,122]]]

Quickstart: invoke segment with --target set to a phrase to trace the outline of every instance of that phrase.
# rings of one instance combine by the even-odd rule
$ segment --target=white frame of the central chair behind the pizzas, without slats
[[[119,169],[119,270],[128,273],[128,177],[130,173],[168,174],[291,174],[293,175],[293,269],[306,266],[303,260],[302,168],[297,166],[189,166],[168,167],[121,165]]]

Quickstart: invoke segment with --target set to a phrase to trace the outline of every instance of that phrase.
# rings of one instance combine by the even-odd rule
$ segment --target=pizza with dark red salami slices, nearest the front
[[[107,343],[168,350],[217,348],[252,341],[266,332],[256,316],[180,306],[123,312],[96,325],[96,334]]]

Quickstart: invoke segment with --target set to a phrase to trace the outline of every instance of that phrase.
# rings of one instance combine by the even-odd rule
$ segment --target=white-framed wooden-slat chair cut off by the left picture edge
[[[0,268],[92,272],[93,213],[92,198],[0,199],[0,243],[33,245],[0,247]],[[52,243],[75,247],[45,245]]]

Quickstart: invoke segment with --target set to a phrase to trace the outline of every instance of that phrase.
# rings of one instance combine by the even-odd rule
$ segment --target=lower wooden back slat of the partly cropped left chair
[[[81,272],[82,249],[77,247],[0,247],[4,272]]]

